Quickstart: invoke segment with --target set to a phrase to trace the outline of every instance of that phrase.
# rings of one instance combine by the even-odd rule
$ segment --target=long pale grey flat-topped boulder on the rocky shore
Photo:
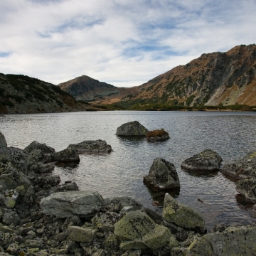
[[[70,191],[52,193],[41,200],[40,207],[43,213],[58,218],[75,215],[87,218],[95,215],[102,203],[102,196],[97,191]]]

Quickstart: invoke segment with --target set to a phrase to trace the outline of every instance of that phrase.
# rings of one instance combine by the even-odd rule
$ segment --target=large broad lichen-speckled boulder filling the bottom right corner
[[[256,226],[230,227],[222,233],[210,233],[198,238],[186,252],[186,256],[198,255],[255,255]]]

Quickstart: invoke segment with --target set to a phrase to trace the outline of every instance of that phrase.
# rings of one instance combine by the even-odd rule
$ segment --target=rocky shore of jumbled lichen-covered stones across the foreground
[[[206,233],[202,215],[169,193],[159,215],[129,197],[60,185],[50,171],[56,161],[79,161],[73,147],[55,152],[33,142],[17,149],[0,132],[0,255],[254,255],[255,225],[216,224]],[[153,166],[162,171],[163,164]]]

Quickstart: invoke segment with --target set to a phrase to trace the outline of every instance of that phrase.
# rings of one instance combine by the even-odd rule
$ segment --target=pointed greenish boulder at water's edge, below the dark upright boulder
[[[169,193],[164,196],[163,218],[183,228],[204,228],[203,216],[192,208],[178,203]]]

